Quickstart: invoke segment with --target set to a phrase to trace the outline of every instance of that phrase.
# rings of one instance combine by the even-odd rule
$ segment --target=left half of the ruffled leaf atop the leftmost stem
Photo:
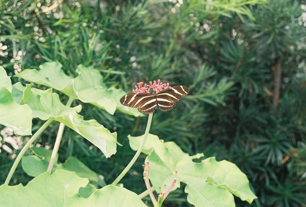
[[[33,111],[33,118],[47,120],[50,117],[57,118],[81,111],[81,105],[72,108],[62,104],[58,94],[52,93],[52,88],[48,90],[32,89],[31,84],[24,87],[20,82],[14,86],[16,89],[23,91],[20,104],[30,106]]]

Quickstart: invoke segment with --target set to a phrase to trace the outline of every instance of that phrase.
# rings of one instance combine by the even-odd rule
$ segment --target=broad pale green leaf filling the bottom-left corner
[[[75,172],[57,170],[52,175],[45,172],[26,186],[0,186],[0,203],[3,206],[65,206],[83,199],[78,191],[87,183],[87,178],[80,178]]]

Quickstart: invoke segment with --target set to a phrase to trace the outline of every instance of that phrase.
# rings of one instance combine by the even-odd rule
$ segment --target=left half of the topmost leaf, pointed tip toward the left
[[[70,98],[76,98],[72,88],[73,78],[67,76],[61,68],[61,63],[49,62],[44,63],[39,71],[36,69],[26,69],[15,76],[29,82],[54,88]]]

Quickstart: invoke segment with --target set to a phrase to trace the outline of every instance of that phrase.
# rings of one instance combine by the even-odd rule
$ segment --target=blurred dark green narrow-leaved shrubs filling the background
[[[0,65],[8,75],[59,61],[71,76],[78,64],[92,65],[107,86],[127,92],[142,80],[189,86],[173,110],[155,112],[151,133],[190,155],[236,163],[259,197],[252,206],[305,206],[305,1],[2,0],[0,14]],[[75,104],[84,119],[117,131],[123,146],[105,159],[66,129],[59,160],[76,156],[111,183],[134,154],[127,135],[143,134],[146,117]],[[33,131],[40,125],[34,120]],[[52,149],[57,128],[35,145]],[[3,183],[27,138],[1,130]],[[136,193],[145,190],[144,158],[122,179]],[[30,179],[20,167],[12,184]],[[165,206],[189,205],[183,187]]]

